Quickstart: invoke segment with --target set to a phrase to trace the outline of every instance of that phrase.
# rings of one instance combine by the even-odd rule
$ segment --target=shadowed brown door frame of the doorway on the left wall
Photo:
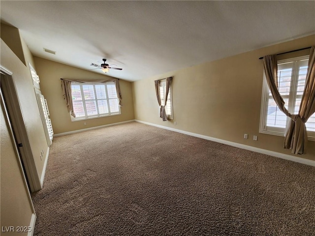
[[[26,172],[25,175],[28,179],[28,183],[30,184],[30,188],[31,188],[30,191],[35,192],[42,189],[42,186],[41,186],[40,178],[38,176],[36,163],[33,158],[32,147],[29,140],[27,126],[23,118],[23,113],[21,111],[19,97],[16,92],[13,73],[10,70],[0,65],[0,74],[1,74],[0,83],[2,87],[1,99],[3,95],[6,101],[6,103],[4,103],[3,101],[3,104],[6,107],[6,112],[8,113],[6,115],[7,115],[8,121],[12,125],[10,126],[11,132],[13,134],[13,130],[14,130],[14,133],[17,139],[16,140],[17,143],[15,145],[21,153],[21,159],[23,161],[25,172]],[[13,140],[15,140],[15,138]],[[22,147],[19,147],[19,144],[22,144]],[[21,163],[21,160],[20,160],[20,163]],[[22,163],[21,163],[21,167],[23,168]]]

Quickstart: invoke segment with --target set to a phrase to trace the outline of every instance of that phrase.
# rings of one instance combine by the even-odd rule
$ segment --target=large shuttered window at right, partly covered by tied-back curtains
[[[285,108],[291,114],[298,114],[309,57],[299,57],[278,61],[278,89],[285,102]],[[285,127],[289,124],[288,117],[280,111],[268,88],[264,76],[262,107],[260,117],[260,133],[284,136]],[[306,122],[309,140],[315,141],[315,114]]]

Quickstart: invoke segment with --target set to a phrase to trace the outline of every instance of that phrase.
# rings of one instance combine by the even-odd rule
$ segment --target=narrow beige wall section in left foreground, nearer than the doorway
[[[33,212],[32,202],[29,198],[27,186],[20,169],[10,130],[6,123],[2,99],[0,112],[0,205],[1,229],[2,227],[30,226]],[[17,235],[17,233],[1,233],[1,235]],[[27,235],[27,233],[18,233]]]

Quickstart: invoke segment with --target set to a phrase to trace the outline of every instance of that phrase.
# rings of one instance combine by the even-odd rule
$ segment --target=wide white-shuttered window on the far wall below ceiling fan
[[[73,110],[76,118],[82,120],[120,115],[114,82],[102,84],[71,83]]]

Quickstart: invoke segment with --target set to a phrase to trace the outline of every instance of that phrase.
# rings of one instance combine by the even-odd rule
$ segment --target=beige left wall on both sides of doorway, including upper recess
[[[9,46],[2,38],[11,40]],[[20,37],[19,32],[16,31],[15,28],[11,29],[9,26],[3,27],[2,24],[0,46],[0,64],[13,73],[12,79],[26,125],[37,174],[38,177],[41,178],[44,171],[48,146],[29,69],[29,62],[35,67],[32,54],[23,38]],[[21,52],[23,53],[24,61],[21,60]],[[19,57],[17,55],[19,55]],[[19,169],[19,159],[17,159],[13,146],[14,142],[9,136],[8,128],[3,118],[2,107],[0,115],[1,226],[29,226],[32,213],[34,213],[32,201],[28,196],[28,189],[23,182],[23,173]],[[43,158],[40,159],[42,149],[44,155]],[[16,235],[16,232],[12,232],[11,235]],[[19,235],[24,234],[19,233]]]

